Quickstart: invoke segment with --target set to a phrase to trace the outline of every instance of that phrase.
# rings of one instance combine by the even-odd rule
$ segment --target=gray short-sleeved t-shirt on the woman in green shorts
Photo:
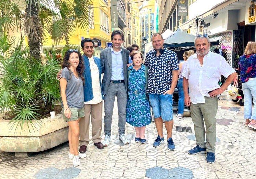
[[[70,77],[71,73],[71,78]],[[67,105],[70,108],[82,108],[84,107],[84,86],[81,77],[75,77],[75,75],[67,67],[62,70],[61,78],[67,80],[66,87],[66,97]],[[63,107],[63,102],[61,99],[61,106]]]

